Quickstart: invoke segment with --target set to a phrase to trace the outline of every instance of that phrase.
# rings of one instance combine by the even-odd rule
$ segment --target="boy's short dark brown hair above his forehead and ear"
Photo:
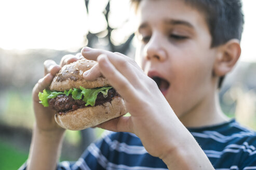
[[[137,10],[142,0],[131,0]],[[240,0],[183,0],[205,15],[212,37],[211,47],[218,47],[233,38],[241,40],[244,14]],[[220,77],[219,88],[224,77]]]

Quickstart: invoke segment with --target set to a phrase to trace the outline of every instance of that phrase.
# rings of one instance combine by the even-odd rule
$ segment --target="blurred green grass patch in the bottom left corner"
[[[0,141],[0,169],[18,169],[28,159],[28,153],[14,148],[13,146]]]

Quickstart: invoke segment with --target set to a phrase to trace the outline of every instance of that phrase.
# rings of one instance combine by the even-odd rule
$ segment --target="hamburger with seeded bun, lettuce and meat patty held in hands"
[[[87,81],[83,73],[96,61],[80,59],[64,65],[50,89],[39,92],[40,103],[56,110],[55,121],[64,129],[83,130],[127,113],[123,98],[104,77]]]

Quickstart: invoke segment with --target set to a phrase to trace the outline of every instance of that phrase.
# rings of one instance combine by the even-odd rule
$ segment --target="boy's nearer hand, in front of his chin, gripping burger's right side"
[[[124,98],[131,115],[107,121],[99,127],[136,134],[145,149],[159,158],[176,148],[177,140],[184,141],[179,140],[177,132],[185,127],[174,114],[156,82],[147,77],[134,60],[120,53],[88,47],[82,50],[82,55],[89,60],[98,60],[98,65],[85,72],[84,78],[93,80],[101,74],[106,77]]]

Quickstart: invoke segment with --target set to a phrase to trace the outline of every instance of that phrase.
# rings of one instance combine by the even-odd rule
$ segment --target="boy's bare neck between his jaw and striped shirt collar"
[[[207,95],[179,119],[186,127],[211,126],[228,121],[221,110],[218,91]]]

